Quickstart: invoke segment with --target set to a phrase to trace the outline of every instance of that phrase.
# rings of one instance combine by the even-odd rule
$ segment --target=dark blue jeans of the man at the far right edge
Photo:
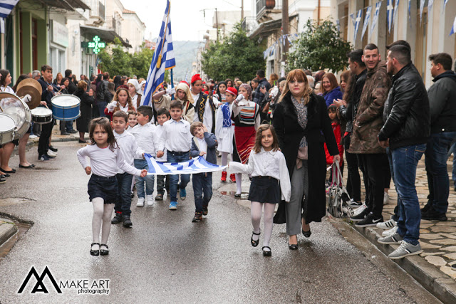
[[[432,133],[427,140],[425,164],[429,203],[438,214],[447,213],[450,181],[448,179],[447,159],[456,132]]]

